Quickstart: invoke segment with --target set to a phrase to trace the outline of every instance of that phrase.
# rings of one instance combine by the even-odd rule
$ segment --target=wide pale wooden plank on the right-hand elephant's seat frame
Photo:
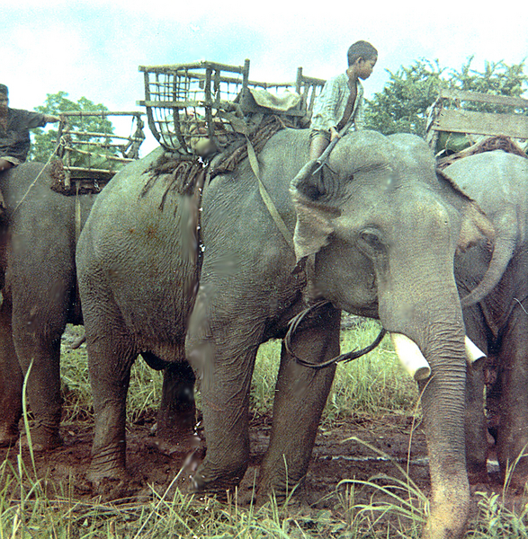
[[[441,110],[433,128],[435,131],[453,133],[528,138],[528,116],[490,114],[473,110]]]

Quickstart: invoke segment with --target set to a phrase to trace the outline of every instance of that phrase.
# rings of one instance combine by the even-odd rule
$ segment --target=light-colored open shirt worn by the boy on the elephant
[[[352,128],[356,131],[364,128],[363,92],[363,86],[358,80],[357,95],[350,116],[353,119]],[[346,73],[328,79],[314,104],[310,129],[329,131],[330,128],[336,128],[343,118],[349,97],[350,86],[348,85],[348,75]]]

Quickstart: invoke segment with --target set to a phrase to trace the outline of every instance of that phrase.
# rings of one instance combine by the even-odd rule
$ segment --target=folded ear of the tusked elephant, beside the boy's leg
[[[291,199],[297,213],[293,243],[297,261],[327,245],[333,221],[341,215],[336,207],[336,174],[326,167],[316,174],[298,174],[291,181]]]

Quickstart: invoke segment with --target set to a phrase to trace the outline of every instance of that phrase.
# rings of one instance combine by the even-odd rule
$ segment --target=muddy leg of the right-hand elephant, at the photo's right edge
[[[528,302],[524,304],[516,305],[510,314],[498,355],[496,383],[501,386],[497,410],[498,462],[503,478],[513,469],[510,485],[520,489],[528,481],[528,317],[525,311]]]

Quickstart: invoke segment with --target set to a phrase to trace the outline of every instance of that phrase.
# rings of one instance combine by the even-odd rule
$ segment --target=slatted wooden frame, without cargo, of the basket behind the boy
[[[139,66],[144,74],[148,127],[158,143],[168,151],[192,156],[189,145],[189,125],[200,116],[204,128],[195,137],[207,137],[216,149],[226,146],[219,138],[219,124],[225,131],[231,128],[228,115],[238,119],[263,112],[262,107],[247,99],[249,89],[264,88],[272,92],[292,90],[300,94],[300,104],[283,114],[300,127],[311,114],[313,103],[326,81],[302,75],[300,67],[295,83],[265,83],[249,79],[250,61],[243,66],[227,66],[210,61],[167,66]],[[170,87],[170,85],[173,85]],[[225,133],[225,131],[222,131]],[[230,140],[228,138],[228,140]]]

